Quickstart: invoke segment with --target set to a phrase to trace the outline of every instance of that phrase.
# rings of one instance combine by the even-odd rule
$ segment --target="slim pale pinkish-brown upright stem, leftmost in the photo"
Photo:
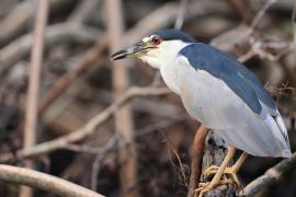
[[[24,149],[30,149],[36,143],[36,128],[38,115],[38,95],[41,72],[44,51],[44,34],[47,23],[48,1],[43,0],[37,2],[37,12],[34,27],[34,44],[31,54],[29,90],[25,108],[24,124]],[[26,161],[25,166],[34,169],[33,161]],[[33,190],[30,187],[21,187],[20,197],[30,197]]]

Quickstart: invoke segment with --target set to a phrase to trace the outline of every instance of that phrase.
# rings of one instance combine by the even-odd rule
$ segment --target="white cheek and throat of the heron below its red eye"
[[[139,57],[143,61],[147,62],[156,69],[163,66],[174,63],[178,53],[190,45],[191,43],[183,43],[181,40],[163,40],[158,45],[157,49],[152,49],[147,55]]]

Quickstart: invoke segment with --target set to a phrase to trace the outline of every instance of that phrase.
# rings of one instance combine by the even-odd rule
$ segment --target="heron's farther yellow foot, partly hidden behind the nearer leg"
[[[208,178],[209,176],[213,176],[217,173],[219,166],[216,165],[210,165],[209,167],[207,167],[204,173],[203,173],[203,178]],[[234,185],[236,185],[239,189],[242,188],[242,185],[238,178],[237,175],[237,167],[231,166],[231,167],[226,167],[224,171],[224,178],[229,179],[229,182],[231,182]]]

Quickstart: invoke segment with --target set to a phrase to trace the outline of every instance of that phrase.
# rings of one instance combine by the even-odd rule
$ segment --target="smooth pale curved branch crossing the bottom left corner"
[[[23,184],[67,197],[103,197],[92,190],[33,170],[0,164],[0,179]]]

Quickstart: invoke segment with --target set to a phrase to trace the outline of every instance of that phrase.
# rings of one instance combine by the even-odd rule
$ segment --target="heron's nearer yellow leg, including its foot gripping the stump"
[[[215,186],[221,184],[220,179],[221,179],[221,176],[224,174],[224,171],[227,167],[227,164],[229,163],[231,158],[234,157],[235,152],[236,152],[236,148],[234,148],[232,146],[228,146],[228,152],[227,152],[221,165],[219,166],[217,173],[215,174],[214,178],[212,179],[212,182],[201,185],[201,187],[195,190],[196,195],[198,194],[198,197],[203,197],[204,193],[206,193],[206,192],[210,190],[212,188],[214,188]]]

